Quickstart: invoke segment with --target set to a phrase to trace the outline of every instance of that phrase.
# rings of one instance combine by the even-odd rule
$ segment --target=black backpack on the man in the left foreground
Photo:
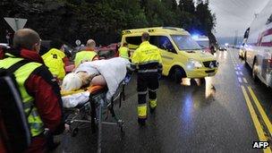
[[[8,69],[0,68],[0,139],[8,152],[24,152],[30,146],[31,133],[21,92],[13,72],[28,61],[21,60]]]

